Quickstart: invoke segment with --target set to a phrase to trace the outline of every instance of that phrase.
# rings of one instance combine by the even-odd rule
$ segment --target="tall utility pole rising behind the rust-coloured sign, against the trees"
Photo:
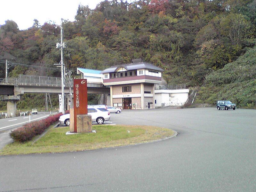
[[[64,69],[65,64],[63,62],[63,49],[66,47],[66,44],[63,43],[63,28],[62,28],[62,19],[61,19],[61,25],[60,25],[60,43],[56,44],[56,48],[60,48],[61,52],[61,105],[62,105],[62,114],[65,113],[65,99],[64,99]]]

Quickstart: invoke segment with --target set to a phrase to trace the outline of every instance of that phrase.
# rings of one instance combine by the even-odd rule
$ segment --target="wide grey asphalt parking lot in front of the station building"
[[[1,156],[0,191],[255,191],[256,110],[123,110],[110,121],[179,134],[135,146]]]

